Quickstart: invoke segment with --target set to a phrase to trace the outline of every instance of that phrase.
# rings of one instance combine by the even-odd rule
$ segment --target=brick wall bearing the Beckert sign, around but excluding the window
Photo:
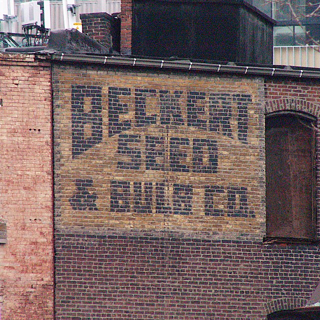
[[[57,319],[303,305],[318,246],[262,242],[264,113],[318,117],[317,85],[94,65],[53,83]]]

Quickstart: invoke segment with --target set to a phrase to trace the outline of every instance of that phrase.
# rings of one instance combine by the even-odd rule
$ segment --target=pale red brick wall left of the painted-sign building
[[[0,55],[1,319],[53,319],[50,66]]]

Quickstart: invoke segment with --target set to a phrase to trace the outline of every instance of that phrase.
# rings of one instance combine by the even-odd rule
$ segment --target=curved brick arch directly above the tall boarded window
[[[320,104],[312,103],[302,99],[281,98],[265,101],[265,114],[281,110],[302,111],[320,117]]]

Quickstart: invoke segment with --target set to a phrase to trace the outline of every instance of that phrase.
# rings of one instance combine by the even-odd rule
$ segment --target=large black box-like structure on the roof
[[[131,52],[271,64],[274,22],[244,0],[132,0]]]

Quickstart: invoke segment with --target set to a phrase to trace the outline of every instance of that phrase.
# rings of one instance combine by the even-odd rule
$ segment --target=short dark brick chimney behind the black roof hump
[[[82,13],[82,32],[112,51],[120,51],[120,21],[106,12]]]

